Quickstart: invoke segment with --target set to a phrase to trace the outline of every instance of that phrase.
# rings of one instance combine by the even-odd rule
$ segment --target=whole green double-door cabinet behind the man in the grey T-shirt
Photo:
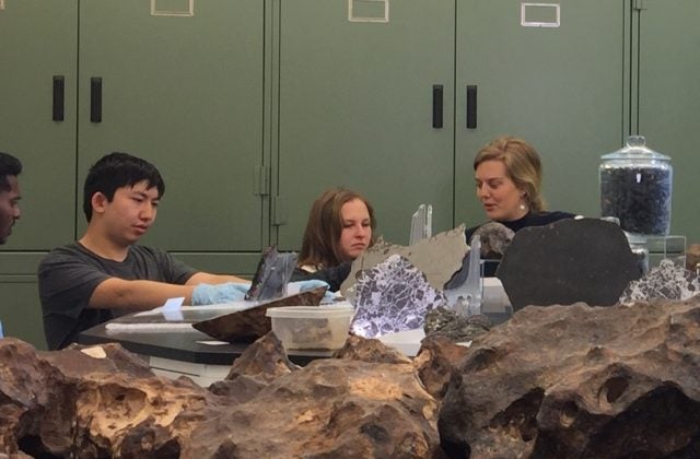
[[[264,2],[2,7],[0,151],[25,166],[22,219],[0,248],[7,333],[45,346],[38,261],[84,231],[82,183],[112,151],[152,161],[165,178],[144,244],[200,269],[250,273],[269,238]]]

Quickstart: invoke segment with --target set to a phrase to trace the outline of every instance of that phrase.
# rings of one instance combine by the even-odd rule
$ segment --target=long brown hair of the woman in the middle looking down
[[[302,251],[299,255],[299,266],[311,264],[320,269],[335,267],[343,261],[338,244],[342,233],[340,210],[345,203],[355,199],[364,202],[368,208],[372,227],[370,245],[374,244],[376,221],[374,220],[372,204],[360,193],[345,188],[331,188],[324,191],[311,207],[302,242]]]

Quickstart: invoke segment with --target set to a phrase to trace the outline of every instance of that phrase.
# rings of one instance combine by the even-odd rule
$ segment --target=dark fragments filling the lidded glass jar
[[[657,167],[600,170],[600,214],[620,219],[622,229],[664,236],[670,229],[672,172]]]

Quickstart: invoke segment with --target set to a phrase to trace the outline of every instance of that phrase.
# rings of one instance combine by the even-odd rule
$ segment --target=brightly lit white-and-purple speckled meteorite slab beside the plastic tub
[[[363,271],[355,285],[355,315],[350,329],[364,338],[421,328],[425,313],[447,304],[410,261],[393,255]]]

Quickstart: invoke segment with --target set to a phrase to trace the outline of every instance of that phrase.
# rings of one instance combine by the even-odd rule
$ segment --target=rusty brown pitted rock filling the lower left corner
[[[187,378],[153,376],[116,344],[100,348],[45,353],[0,340],[0,452],[176,457],[224,400]]]

